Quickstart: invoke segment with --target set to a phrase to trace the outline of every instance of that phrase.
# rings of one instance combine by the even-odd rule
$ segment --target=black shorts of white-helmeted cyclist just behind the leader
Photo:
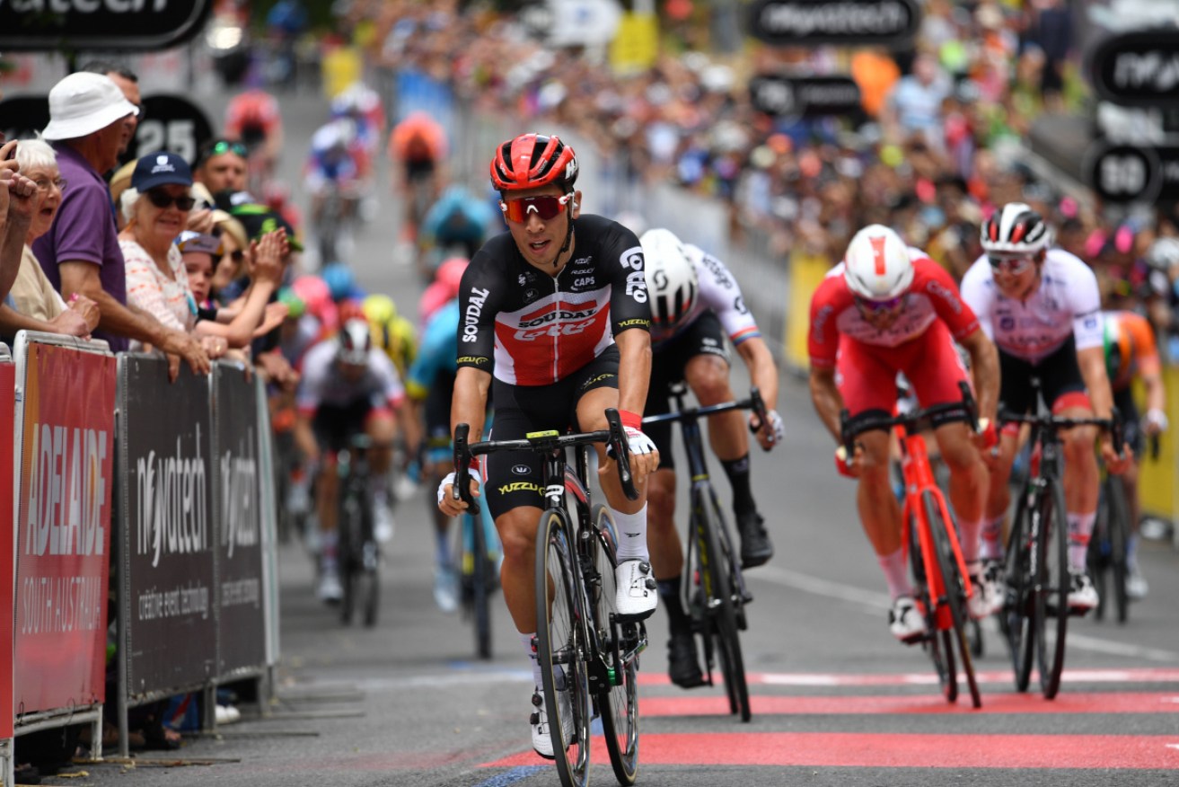
[[[729,366],[725,332],[712,311],[705,311],[683,333],[656,349],[651,360],[651,385],[647,387],[644,415],[671,412],[671,388],[684,381],[684,369],[697,355],[716,355]],[[659,470],[676,468],[671,452],[673,426],[674,424],[664,422],[643,427],[643,432],[659,448]]]

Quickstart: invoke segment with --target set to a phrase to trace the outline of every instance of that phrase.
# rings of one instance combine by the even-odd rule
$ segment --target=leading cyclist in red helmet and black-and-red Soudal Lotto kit
[[[522,135],[496,150],[492,183],[508,232],[488,241],[462,277],[452,421],[470,424],[472,440],[480,439],[492,386],[496,440],[541,429],[602,429],[605,409],[619,409],[639,500],[623,494],[604,446],[598,446],[599,480],[619,532],[618,612],[641,619],[658,598],[646,543],[645,480],[659,464],[654,444],[640,429],[651,376],[643,248],[621,224],[580,214],[577,175],[573,149],[556,137]],[[487,505],[503,543],[503,598],[533,664],[533,748],[552,758],[532,647],[541,460],[527,452],[492,454],[485,477]],[[449,516],[467,507],[453,499],[453,484],[452,473],[439,487],[439,506]],[[567,707],[562,703],[566,724]]]

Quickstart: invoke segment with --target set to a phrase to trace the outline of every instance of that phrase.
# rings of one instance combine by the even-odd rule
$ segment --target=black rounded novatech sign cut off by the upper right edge
[[[1124,106],[1179,106],[1179,29],[1112,35],[1087,59],[1096,94]]]

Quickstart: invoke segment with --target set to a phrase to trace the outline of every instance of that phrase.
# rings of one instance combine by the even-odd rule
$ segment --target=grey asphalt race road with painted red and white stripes
[[[212,107],[217,107],[216,103]],[[217,109],[216,111],[219,111]],[[297,183],[318,101],[284,100]],[[301,149],[302,147],[302,149]],[[382,181],[382,194],[387,195]],[[413,311],[420,291],[395,254],[397,210],[380,212],[357,240],[361,282]],[[739,376],[739,375],[738,375]],[[744,381],[738,382],[739,386]],[[994,630],[976,669],[983,709],[948,706],[916,649],[885,625],[888,598],[854,509],[852,483],[831,463],[831,440],[805,386],[785,378],[786,441],[755,455],[755,491],[777,545],[747,575],[756,601],[743,636],[753,720],[726,713],[723,688],[684,691],[666,680],[665,618],[648,627],[641,662],[643,785],[973,787],[1127,785],[1179,781],[1179,553],[1142,546],[1151,595],[1125,625],[1071,627],[1060,696],[1015,695]],[[717,470],[713,464],[713,470]],[[719,481],[727,497],[724,480]],[[387,555],[376,628],[344,628],[314,597],[311,562],[284,547],[282,664],[277,699],[257,717],[177,753],[192,763],[85,766],[52,783],[270,787],[422,785],[522,787],[558,783],[531,752],[531,673],[499,598],[490,662],[474,658],[472,628],[432,597],[432,490],[401,503]],[[681,503],[683,505],[683,503]],[[601,759],[599,759],[599,754]],[[613,774],[595,747],[593,783]]]

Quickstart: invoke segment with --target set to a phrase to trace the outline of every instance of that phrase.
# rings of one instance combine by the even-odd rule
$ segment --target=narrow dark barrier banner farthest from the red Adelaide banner
[[[253,383],[237,367],[213,369],[217,505],[218,675],[266,662],[263,609],[258,411]]]

